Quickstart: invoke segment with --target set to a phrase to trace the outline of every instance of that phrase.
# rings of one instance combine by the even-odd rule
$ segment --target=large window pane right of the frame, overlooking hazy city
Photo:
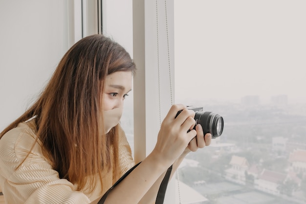
[[[175,0],[175,103],[224,118],[178,169],[182,204],[306,203],[305,7]]]

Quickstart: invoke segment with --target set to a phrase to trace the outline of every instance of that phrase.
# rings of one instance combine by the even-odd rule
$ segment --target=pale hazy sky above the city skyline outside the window
[[[305,0],[175,0],[175,97],[306,103]]]

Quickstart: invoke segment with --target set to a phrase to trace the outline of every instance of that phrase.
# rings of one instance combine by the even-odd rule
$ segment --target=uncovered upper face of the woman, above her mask
[[[105,80],[102,111],[123,107],[123,101],[132,86],[131,71],[117,71],[109,74]]]

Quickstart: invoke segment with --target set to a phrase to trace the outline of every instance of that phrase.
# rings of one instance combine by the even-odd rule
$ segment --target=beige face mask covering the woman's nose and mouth
[[[109,111],[103,111],[104,130],[105,134],[109,133],[110,129],[115,127],[121,118],[123,108],[116,108]]]

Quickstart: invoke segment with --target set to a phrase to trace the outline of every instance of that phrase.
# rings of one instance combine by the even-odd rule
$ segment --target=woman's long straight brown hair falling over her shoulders
[[[32,117],[36,140],[60,178],[89,191],[103,173],[118,172],[118,125],[99,136],[105,78],[116,71],[135,71],[129,53],[113,40],[97,34],[85,37],[64,55],[38,100],[0,133],[0,138]],[[89,177],[88,177],[89,176]]]

